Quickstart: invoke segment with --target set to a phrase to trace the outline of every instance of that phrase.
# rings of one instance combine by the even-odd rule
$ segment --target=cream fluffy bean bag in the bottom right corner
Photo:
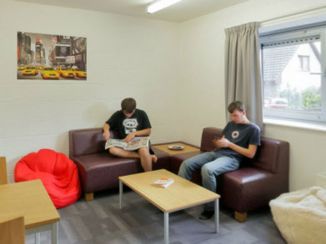
[[[313,186],[281,194],[269,203],[274,222],[289,244],[326,243],[326,190]]]

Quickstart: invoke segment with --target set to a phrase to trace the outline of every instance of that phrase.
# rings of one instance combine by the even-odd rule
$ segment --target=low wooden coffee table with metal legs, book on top
[[[172,178],[174,183],[167,188],[152,185],[156,179]],[[220,196],[195,183],[183,179],[165,169],[119,177],[120,209],[122,208],[123,184],[146,198],[164,212],[164,243],[169,243],[169,213],[215,201],[215,232],[219,232]]]

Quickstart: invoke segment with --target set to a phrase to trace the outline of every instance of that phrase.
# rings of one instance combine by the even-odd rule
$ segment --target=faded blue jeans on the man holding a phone
[[[219,153],[218,150],[204,152],[182,162],[178,175],[190,180],[192,172],[201,168],[202,186],[212,192],[216,192],[216,176],[238,169],[240,162],[236,158]],[[214,209],[214,202],[205,204],[204,209]]]

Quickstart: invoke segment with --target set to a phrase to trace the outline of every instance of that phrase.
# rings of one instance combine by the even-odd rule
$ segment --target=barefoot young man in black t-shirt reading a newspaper
[[[103,137],[110,139],[110,128],[118,131],[119,139],[130,141],[135,136],[149,136],[151,123],[145,111],[136,108],[135,99],[128,97],[122,100],[121,110],[116,111],[103,125]],[[144,171],[152,170],[152,162],[156,163],[157,157],[150,148],[144,147],[136,151],[126,151],[120,147],[111,147],[110,153],[123,158],[140,158]]]

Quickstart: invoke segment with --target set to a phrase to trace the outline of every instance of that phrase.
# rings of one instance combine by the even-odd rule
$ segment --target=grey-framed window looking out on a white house
[[[326,25],[261,35],[264,117],[326,122]]]

